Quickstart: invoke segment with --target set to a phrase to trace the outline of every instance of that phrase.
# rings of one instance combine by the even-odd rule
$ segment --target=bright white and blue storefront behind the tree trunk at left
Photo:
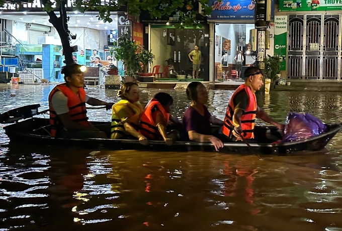
[[[81,14],[72,11],[71,1],[67,2],[66,10],[68,29],[76,36],[70,41],[70,45],[78,48],[78,51],[73,53],[77,63],[89,66],[94,49],[97,50],[101,60],[106,60],[109,52],[106,53],[104,48],[117,39],[120,34],[119,24],[127,24],[127,16],[121,19],[120,13],[114,12],[111,16],[113,22],[104,23],[98,20],[98,12]],[[33,73],[39,68],[45,79],[63,81],[60,76],[60,68],[64,60],[60,37],[50,24],[49,16],[42,11],[40,1],[35,0],[22,5],[5,4],[1,11],[0,19],[3,24],[6,24],[6,29],[2,29],[0,42],[16,48],[13,57],[2,57],[5,68],[16,66],[18,70],[26,68]],[[59,12],[56,12],[56,15],[59,17]],[[124,12],[122,15],[125,15]],[[130,31],[129,28],[123,30],[123,33]]]

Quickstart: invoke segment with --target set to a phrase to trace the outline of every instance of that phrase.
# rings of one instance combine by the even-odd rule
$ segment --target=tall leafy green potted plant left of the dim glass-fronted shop
[[[125,65],[125,75],[131,76],[133,81],[136,80],[135,77],[141,70],[139,60],[140,47],[136,45],[132,39],[125,36],[120,37],[116,45],[112,54],[114,53],[114,57],[117,60],[122,60]]]

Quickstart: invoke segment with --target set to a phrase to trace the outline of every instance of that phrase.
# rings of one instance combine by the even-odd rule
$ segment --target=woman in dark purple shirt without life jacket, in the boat
[[[191,82],[187,87],[187,96],[191,100],[183,119],[183,136],[186,140],[211,142],[216,151],[223,148],[223,143],[214,137],[211,124],[223,125],[223,121],[212,116],[204,105],[208,102],[208,91],[201,82]]]

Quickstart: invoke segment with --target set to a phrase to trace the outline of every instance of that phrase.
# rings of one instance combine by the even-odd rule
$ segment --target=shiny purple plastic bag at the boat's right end
[[[283,137],[284,142],[299,141],[323,133],[326,126],[309,113],[289,112]]]

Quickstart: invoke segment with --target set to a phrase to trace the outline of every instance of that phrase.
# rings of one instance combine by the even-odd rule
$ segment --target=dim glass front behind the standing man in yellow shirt
[[[152,66],[160,65],[162,77],[192,76],[193,63],[188,55],[197,45],[202,54],[199,78],[209,80],[209,28],[181,30],[173,26],[152,25],[150,41],[150,49],[156,57]]]

